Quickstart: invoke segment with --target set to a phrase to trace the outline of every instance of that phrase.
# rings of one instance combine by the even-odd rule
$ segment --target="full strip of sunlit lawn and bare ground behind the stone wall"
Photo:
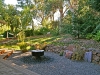
[[[15,49],[20,50],[17,41],[17,39],[10,39],[7,40],[6,43],[0,43],[0,48],[8,48],[8,49]],[[59,36],[33,36],[33,37],[27,37],[25,39],[25,43],[28,43],[30,45],[35,44],[41,44],[46,43],[52,44],[52,45],[59,45],[59,46],[68,46],[69,44],[79,44],[81,46],[85,47],[94,47],[99,48],[99,42],[96,42],[94,40],[87,40],[87,39],[74,39],[72,36],[66,34],[66,35],[59,35]],[[28,49],[30,49],[30,46],[28,46]]]

